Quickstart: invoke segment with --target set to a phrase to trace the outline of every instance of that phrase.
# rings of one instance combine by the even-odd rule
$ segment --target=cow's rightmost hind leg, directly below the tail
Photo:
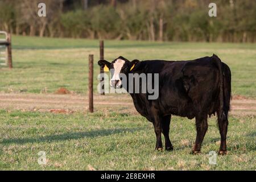
[[[228,132],[228,124],[228,118],[220,119],[220,117],[218,117],[218,129],[220,129],[221,135],[220,151],[218,152],[220,155],[226,154],[226,133]]]

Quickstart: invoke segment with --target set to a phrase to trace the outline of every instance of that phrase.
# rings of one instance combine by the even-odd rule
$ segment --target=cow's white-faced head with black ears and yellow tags
[[[121,88],[122,77],[120,75],[124,74],[128,78],[128,74],[133,71],[137,63],[139,63],[139,60],[129,61],[122,56],[113,60],[112,63],[109,63],[109,61],[106,60],[98,61],[98,65],[100,65],[101,68],[104,68],[105,72],[110,70],[110,86],[114,88]]]

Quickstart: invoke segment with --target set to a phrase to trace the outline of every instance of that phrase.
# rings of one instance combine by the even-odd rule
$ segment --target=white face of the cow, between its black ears
[[[118,88],[122,85],[119,74],[120,74],[121,69],[123,68],[124,64],[125,64],[125,60],[122,60],[122,59],[117,59],[113,63],[113,69],[114,70],[111,72],[112,78],[110,79],[110,86],[112,86],[112,87],[116,86]]]

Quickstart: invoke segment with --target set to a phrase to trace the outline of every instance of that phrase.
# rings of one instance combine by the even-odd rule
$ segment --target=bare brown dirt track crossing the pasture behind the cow
[[[243,98],[243,97],[238,97]],[[94,111],[138,114],[129,94],[93,95]],[[0,109],[71,114],[88,111],[88,96],[79,94],[0,93]],[[230,114],[256,115],[256,100],[231,101]]]

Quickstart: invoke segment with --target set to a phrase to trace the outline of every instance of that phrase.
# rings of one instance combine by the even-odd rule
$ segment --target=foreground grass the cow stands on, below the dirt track
[[[0,110],[0,120],[0,169],[4,170],[255,169],[255,116],[229,119],[229,154],[217,156],[217,165],[208,163],[208,152],[217,152],[220,145],[215,119],[209,121],[200,155],[190,154],[195,122],[180,117],[172,118],[175,150],[171,152],[154,150],[152,124],[139,115]],[[38,164],[39,151],[46,151],[46,165]]]

